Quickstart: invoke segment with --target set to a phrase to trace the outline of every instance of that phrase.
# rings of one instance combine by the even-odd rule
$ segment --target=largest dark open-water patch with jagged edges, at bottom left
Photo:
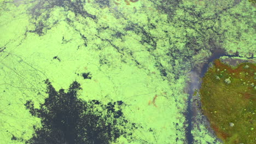
[[[120,135],[127,132],[129,123],[121,110],[123,101],[109,102],[104,105],[99,100],[84,101],[78,98],[78,91],[82,89],[80,84],[74,81],[67,92],[60,89],[59,92],[51,85],[47,85],[48,98],[40,108],[34,108],[33,101],[25,104],[32,116],[41,119],[42,128],[33,127],[35,134],[26,143],[48,144],[82,144],[82,143],[111,143]],[[100,106],[102,110],[96,109]],[[118,107],[118,110],[115,110]],[[136,125],[132,123],[131,125]],[[122,127],[119,129],[118,127]],[[136,127],[132,127],[133,129]],[[13,136],[12,140],[19,140]]]

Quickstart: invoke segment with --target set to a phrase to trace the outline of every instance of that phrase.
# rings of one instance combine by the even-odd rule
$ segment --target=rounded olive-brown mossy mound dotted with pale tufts
[[[256,64],[241,63],[232,68],[217,59],[202,79],[203,113],[224,143],[256,142],[255,71]]]

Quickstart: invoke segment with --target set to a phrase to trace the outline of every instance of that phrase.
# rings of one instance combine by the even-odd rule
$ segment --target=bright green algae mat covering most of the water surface
[[[247,1],[86,1],[86,13],[54,2],[1,2],[4,143],[24,143],[11,138],[28,140],[33,125],[40,125],[24,104],[43,103],[45,79],[56,89],[78,81],[84,100],[124,101],[124,116],[141,127],[116,143],[185,143],[188,71],[218,47],[240,56],[255,53],[255,9]],[[88,72],[92,79],[81,76]],[[195,140],[216,139],[200,128],[193,130]]]

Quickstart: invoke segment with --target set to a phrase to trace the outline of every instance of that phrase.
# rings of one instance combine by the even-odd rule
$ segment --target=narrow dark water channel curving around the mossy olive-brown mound
[[[212,56],[208,58],[205,64],[203,64],[201,70],[194,68],[189,72],[190,82],[188,82],[188,91],[187,91],[189,94],[189,97],[188,97],[188,107],[187,107],[187,113],[186,113],[186,119],[188,123],[188,127],[186,129],[186,137],[187,137],[188,144],[193,144],[193,141],[194,141],[194,137],[191,134],[191,130],[193,128],[192,122],[194,117],[193,110],[192,110],[193,105],[191,104],[191,99],[193,97],[195,90],[201,87],[201,78],[207,72],[210,63],[212,63],[215,59],[218,59],[223,56],[241,57],[241,56],[238,56],[238,53],[236,53],[236,55],[228,55],[224,50],[217,49],[214,52],[212,52]],[[249,57],[248,59],[253,59],[253,58],[256,58],[256,57],[253,57],[252,55],[252,57]]]

